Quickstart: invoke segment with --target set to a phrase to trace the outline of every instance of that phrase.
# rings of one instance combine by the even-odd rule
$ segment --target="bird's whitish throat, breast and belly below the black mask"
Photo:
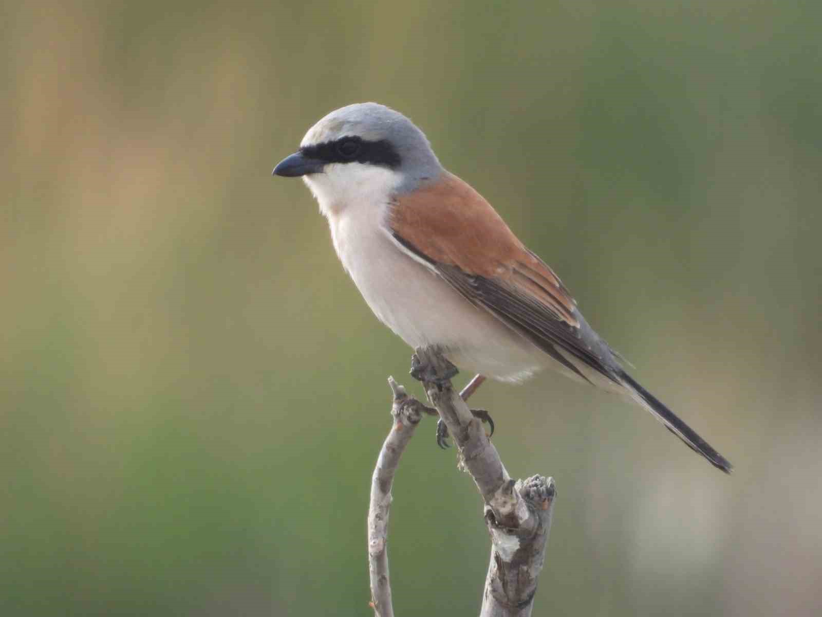
[[[470,304],[391,238],[388,196],[399,183],[397,174],[364,165],[350,171],[345,179],[353,180],[342,190],[341,179],[326,174],[306,183],[328,218],[339,260],[376,317],[412,347],[446,347],[449,359],[466,371],[516,381],[541,368],[544,355],[536,347]]]

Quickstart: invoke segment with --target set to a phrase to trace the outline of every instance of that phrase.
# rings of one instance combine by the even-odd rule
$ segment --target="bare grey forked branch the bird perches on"
[[[438,413],[456,444],[459,469],[467,471],[483,497],[485,522],[492,540],[480,617],[527,617],[533,609],[551,530],[556,488],[551,478],[511,480],[480,420],[459,397],[448,375],[450,366],[434,349],[418,349],[420,363],[433,376],[423,382],[432,410],[409,397],[389,379],[395,425],[377,459],[368,512],[368,560],[372,607],[378,617],[393,617],[386,550],[390,489],[399,457],[423,414]],[[401,425],[401,428],[397,428]],[[406,426],[408,429],[406,430]]]

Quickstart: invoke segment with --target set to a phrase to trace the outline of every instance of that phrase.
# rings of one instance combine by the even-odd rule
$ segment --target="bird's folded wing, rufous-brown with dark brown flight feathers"
[[[491,204],[467,183],[446,173],[396,197],[389,225],[400,245],[464,298],[496,315],[566,368],[585,378],[568,359],[570,354],[614,378],[597,346],[583,340],[580,313],[559,277],[525,248]],[[585,334],[596,336],[590,328]]]

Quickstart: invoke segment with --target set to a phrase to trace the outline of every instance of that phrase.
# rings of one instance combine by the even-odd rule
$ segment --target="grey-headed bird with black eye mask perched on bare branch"
[[[719,470],[732,465],[626,372],[566,285],[423,131],[382,104],[321,118],[273,174],[302,177],[368,306],[413,348],[459,369],[521,383],[543,369],[638,403]]]

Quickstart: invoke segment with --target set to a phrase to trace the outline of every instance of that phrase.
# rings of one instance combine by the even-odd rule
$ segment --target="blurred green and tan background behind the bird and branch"
[[[363,100],[737,467],[559,376],[483,387],[511,474],[557,482],[534,615],[820,614],[820,31],[820,2],[0,5],[0,615],[371,615],[386,377],[421,390],[270,177]],[[476,614],[488,546],[424,420],[398,614]]]

